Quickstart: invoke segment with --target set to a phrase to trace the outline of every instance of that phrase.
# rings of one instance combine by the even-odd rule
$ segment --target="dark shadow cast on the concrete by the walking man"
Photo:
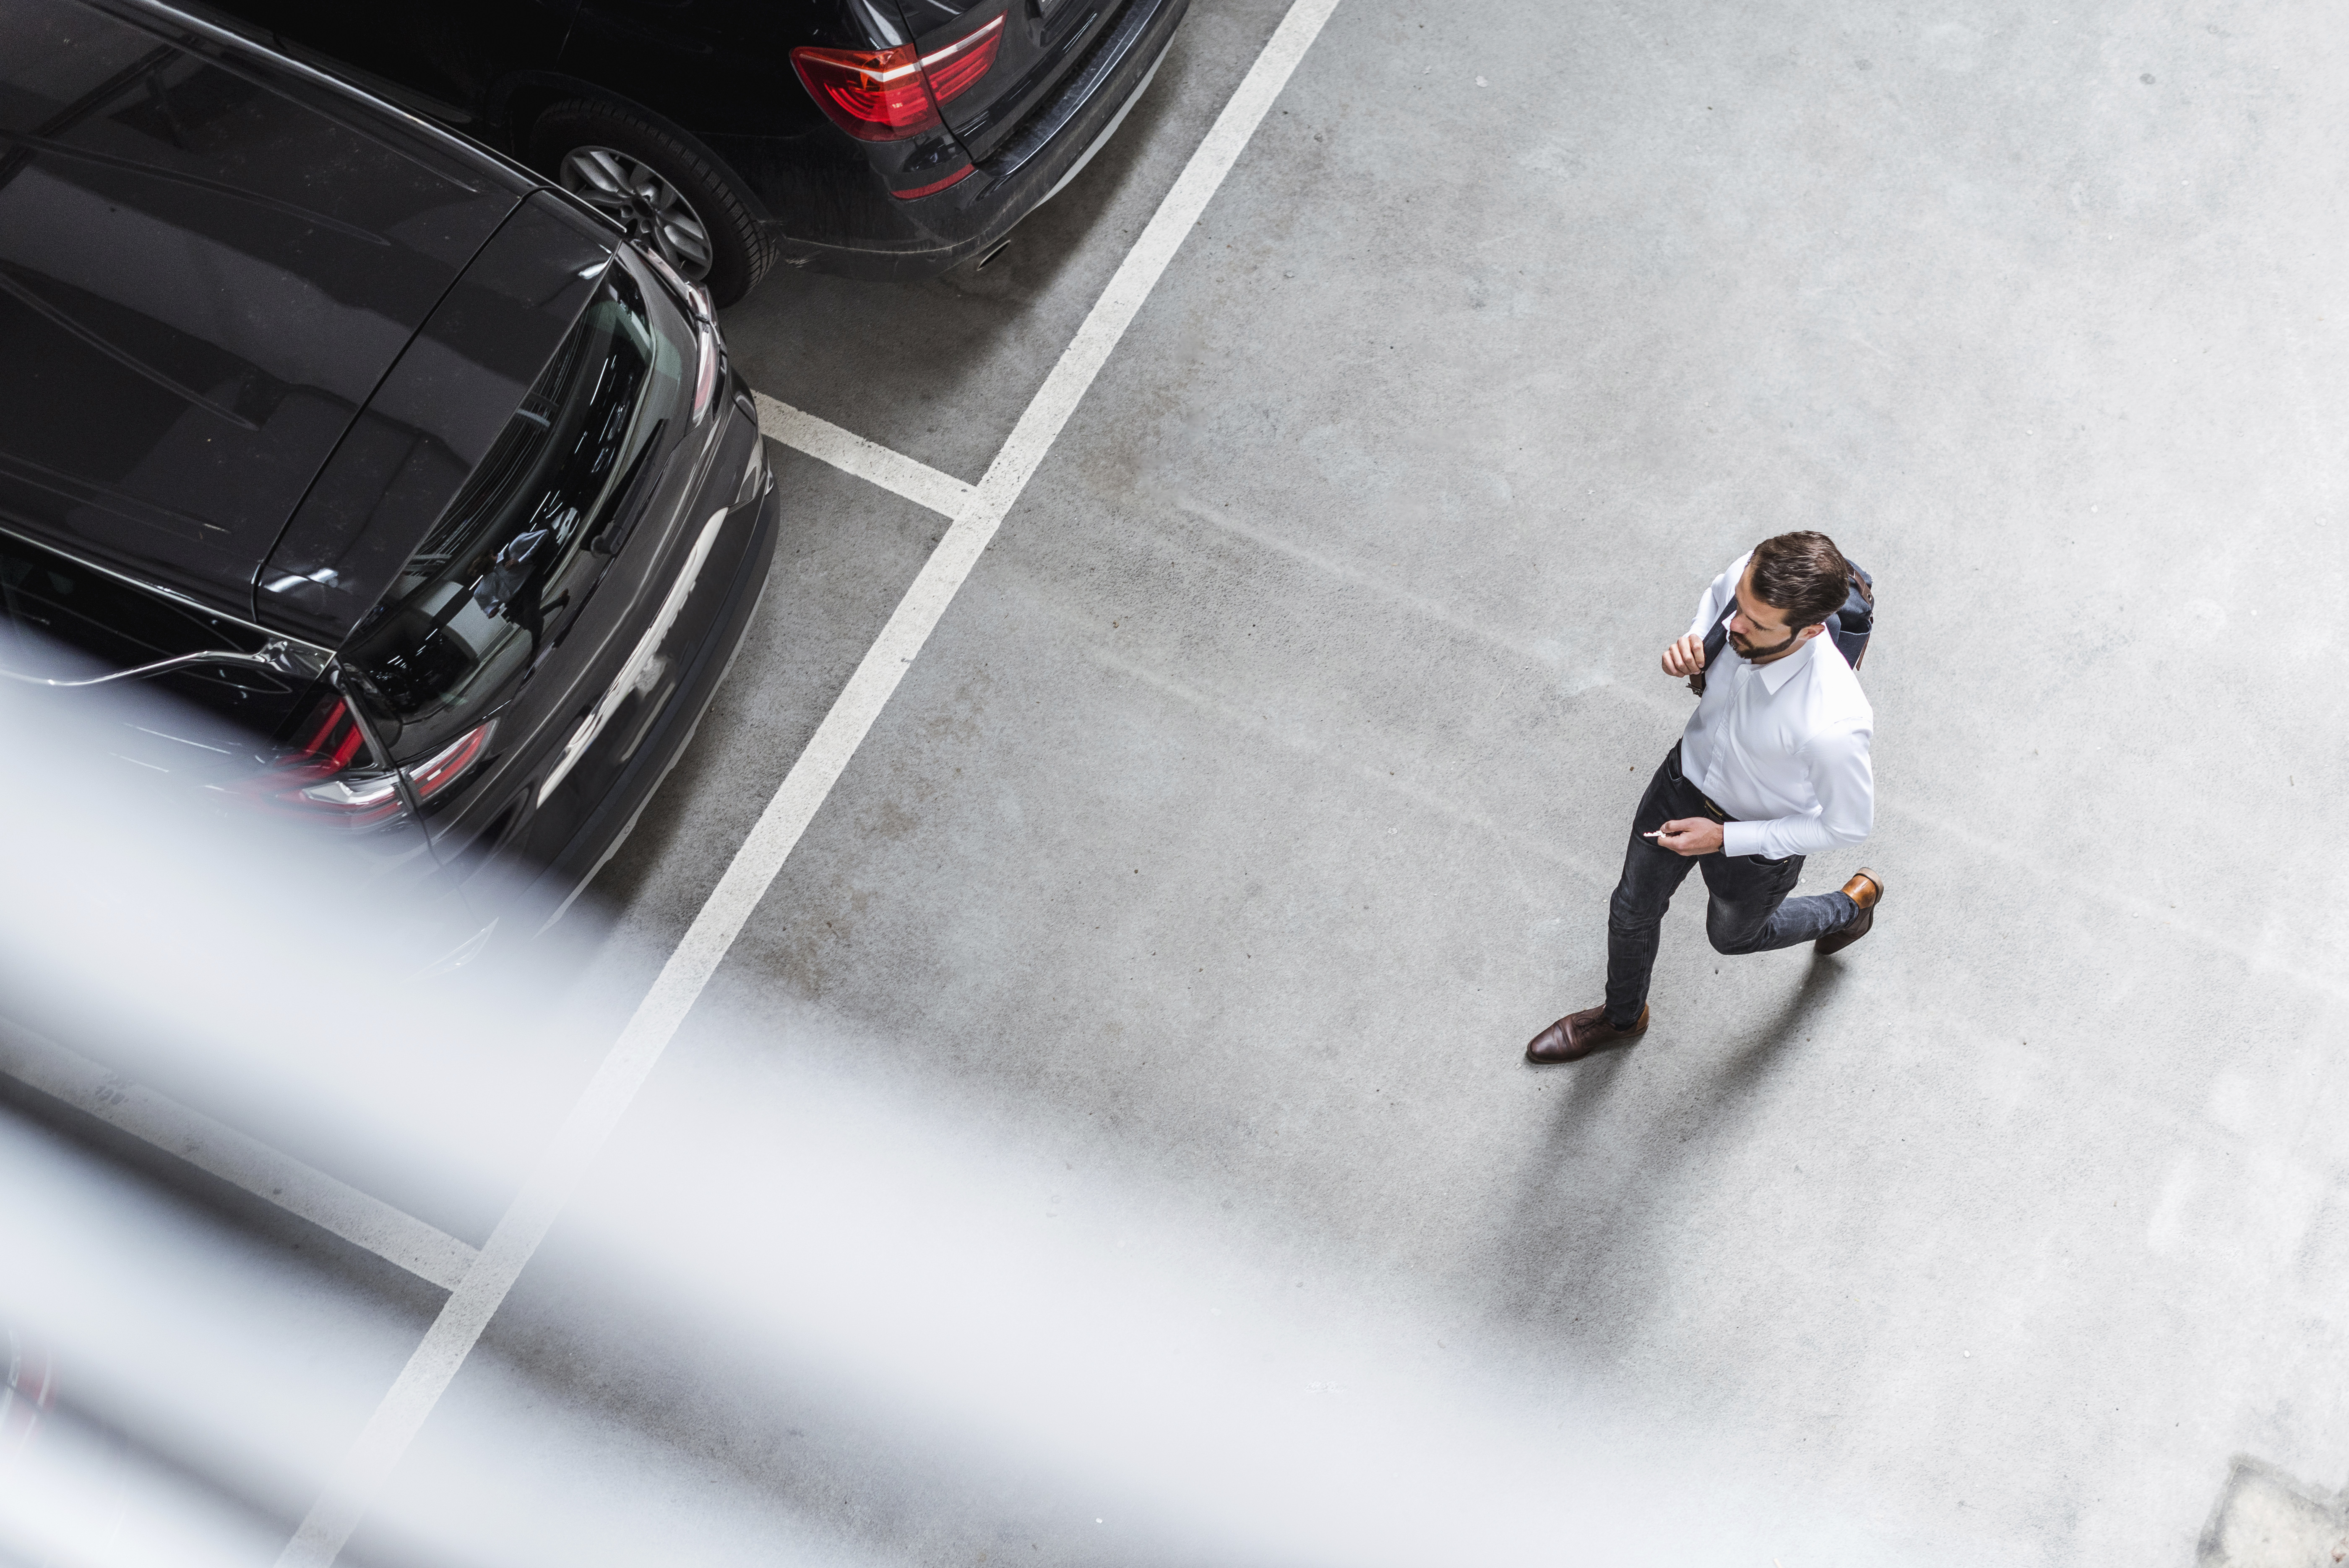
[[[1813,958],[1757,1026],[1708,1040],[1698,1023],[1567,1068],[1574,1077],[1496,1232],[1492,1312],[1574,1324],[1571,1338],[1600,1352],[1628,1338],[1649,1307],[1649,1282],[1661,1282],[1658,1242],[1687,1228],[1689,1183],[1743,1136],[1757,1091],[1792,1061],[1790,1047],[1816,1030],[1844,981],[1839,960]],[[1656,1047],[1675,1059],[1670,1099],[1640,1094],[1633,1110],[1637,1054]]]

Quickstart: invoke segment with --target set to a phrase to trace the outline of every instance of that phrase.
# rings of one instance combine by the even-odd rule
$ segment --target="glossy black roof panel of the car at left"
[[[0,521],[240,617],[526,185],[129,5],[0,7]]]

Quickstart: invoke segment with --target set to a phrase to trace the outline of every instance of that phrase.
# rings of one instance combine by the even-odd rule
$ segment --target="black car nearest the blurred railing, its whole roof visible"
[[[775,530],[707,293],[597,214],[186,14],[0,0],[19,702],[486,932],[625,836]]]

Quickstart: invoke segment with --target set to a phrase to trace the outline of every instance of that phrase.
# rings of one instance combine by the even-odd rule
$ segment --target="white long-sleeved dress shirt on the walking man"
[[[1689,631],[1698,641],[1736,599],[1750,556],[1696,601]],[[1722,643],[1680,737],[1680,772],[1738,819],[1722,829],[1724,854],[1783,859],[1856,845],[1877,819],[1875,725],[1860,678],[1825,631],[1769,664]]]

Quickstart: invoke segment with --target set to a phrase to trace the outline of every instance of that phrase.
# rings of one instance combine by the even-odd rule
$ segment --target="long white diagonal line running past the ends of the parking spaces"
[[[1207,211],[1207,202],[1214,200],[1224,176],[1240,160],[1247,138],[1337,7],[1339,0],[1292,0],[1247,77],[1224,103],[1224,113],[1191,153],[1174,188],[1151,214],[1149,228],[1142,230],[1116,277],[1109,279],[1109,289],[1095,300],[1085,324],[1076,329],[1076,338],[1062,350],[1036,397],[1029,399],[1010,439],[1003,441],[1003,451],[987,465],[987,477],[956,509],[954,523],[930,552],[904,599],[897,601],[897,610],[855,674],[848,676],[848,685],[824,714],[808,749],[792,763],[749,838],[735,850],[709,901],[702,904],[677,951],[660,967],[653,988],[580,1091],[514,1204],[482,1246],[482,1256],[449,1293],[416,1354],[409,1357],[383,1404],[376,1406],[359,1439],[329,1476],[324,1493],[301,1521],[294,1540],[277,1556],[277,1568],[327,1568],[341,1554],[371,1498],[399,1465],[399,1455],[406,1453],[432,1406],[439,1404],[442,1392],[482,1338],[491,1314],[554,1225],[554,1216],[587,1176],[597,1150],[620,1124],[637,1089],[660,1061],[660,1052],[667,1049],[709,976],[716,974],[726,951],[749,922],[752,908],[782,871],[782,861],[799,845],[808,822],[815,819],[815,810],[846,772],[897,683],[904,681],[904,671],[930,641],[930,631],[980,563],[1003,516],[1052,448],[1052,439],[1069,423],[1085,390],[1092,387],[1109,352],[1125,336],[1184,237]],[[850,439],[862,441],[862,437]]]

